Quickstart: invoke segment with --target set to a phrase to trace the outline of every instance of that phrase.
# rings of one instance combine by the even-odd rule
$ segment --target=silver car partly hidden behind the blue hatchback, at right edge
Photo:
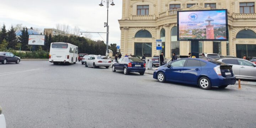
[[[222,58],[218,61],[233,65],[233,71],[237,79],[256,80],[256,65],[248,60],[239,58]]]

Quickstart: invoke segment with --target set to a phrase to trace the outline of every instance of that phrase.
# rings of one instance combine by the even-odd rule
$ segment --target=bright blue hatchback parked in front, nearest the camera
[[[159,82],[199,85],[207,90],[213,86],[225,88],[236,83],[232,65],[197,58],[184,58],[162,65],[155,69],[153,78]]]

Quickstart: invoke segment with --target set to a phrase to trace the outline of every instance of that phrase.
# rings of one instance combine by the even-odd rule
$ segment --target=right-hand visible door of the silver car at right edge
[[[239,59],[238,63],[240,65],[240,76],[242,78],[256,79],[256,68],[253,63],[242,59]]]

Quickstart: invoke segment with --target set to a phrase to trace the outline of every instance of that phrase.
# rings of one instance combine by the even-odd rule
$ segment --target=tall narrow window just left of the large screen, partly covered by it
[[[171,29],[171,53],[180,54],[180,42],[177,41],[177,27]]]

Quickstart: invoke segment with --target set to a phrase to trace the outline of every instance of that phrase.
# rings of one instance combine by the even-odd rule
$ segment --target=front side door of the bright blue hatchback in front
[[[180,59],[170,63],[169,68],[166,69],[165,75],[167,81],[182,81],[183,67],[187,59]]]

